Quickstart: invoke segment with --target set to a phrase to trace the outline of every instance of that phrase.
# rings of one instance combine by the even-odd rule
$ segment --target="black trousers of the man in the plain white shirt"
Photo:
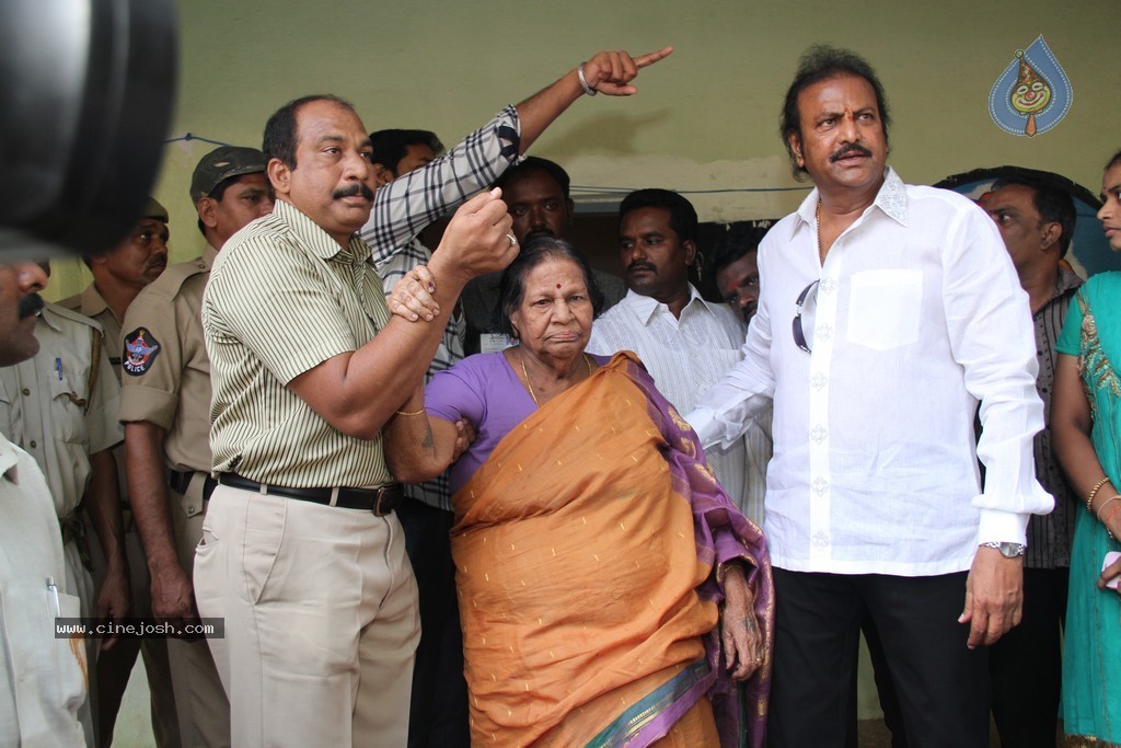
[[[965,573],[812,574],[775,570],[768,746],[845,746],[861,617],[876,625],[911,748],[989,745],[984,648],[957,622]]]

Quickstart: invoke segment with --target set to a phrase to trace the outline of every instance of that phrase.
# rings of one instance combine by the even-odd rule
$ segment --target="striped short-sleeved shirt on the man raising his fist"
[[[370,248],[345,250],[293,205],[231,239],[203,296],[214,388],[214,472],[295,488],[391,482],[381,436],[348,436],[288,389],[327,359],[356,351],[389,321]],[[404,399],[404,398],[402,398]]]

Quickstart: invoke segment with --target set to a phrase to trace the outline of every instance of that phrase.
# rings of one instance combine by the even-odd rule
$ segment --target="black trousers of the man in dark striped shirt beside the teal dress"
[[[1023,619],[989,652],[1002,746],[1055,748],[1069,569],[1023,570]]]

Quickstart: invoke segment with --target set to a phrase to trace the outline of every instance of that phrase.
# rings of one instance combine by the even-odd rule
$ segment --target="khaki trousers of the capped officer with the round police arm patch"
[[[195,564],[195,546],[203,537],[203,481],[206,473],[196,472],[186,493],[167,489],[170,501],[172,528],[175,532],[175,554],[191,579]],[[230,745],[230,701],[214,666],[205,639],[167,639],[167,658],[172,666],[175,710],[179,715],[179,736],[185,748],[224,748]]]

